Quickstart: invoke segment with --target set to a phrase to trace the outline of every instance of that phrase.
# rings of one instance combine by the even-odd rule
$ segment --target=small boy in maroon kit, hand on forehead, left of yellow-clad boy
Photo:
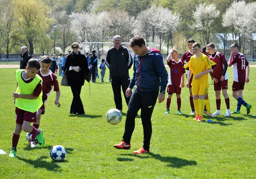
[[[172,59],[170,59],[172,56]],[[170,67],[169,71],[169,82],[168,82],[168,97],[166,101],[166,112],[165,114],[169,114],[170,111],[170,104],[171,104],[171,99],[172,99],[172,93],[176,93],[177,96],[177,114],[182,114],[180,111],[181,107],[181,98],[180,98],[180,93],[181,93],[181,88],[183,88],[184,85],[184,73],[185,69],[183,68],[184,64],[178,60],[178,51],[176,49],[171,49],[171,52],[169,53],[167,57],[167,64]]]

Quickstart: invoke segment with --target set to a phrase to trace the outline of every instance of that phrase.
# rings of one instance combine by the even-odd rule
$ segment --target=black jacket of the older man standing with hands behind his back
[[[122,45],[118,50],[114,46],[111,47],[107,52],[105,64],[113,77],[129,75],[129,69],[133,64],[130,51]]]

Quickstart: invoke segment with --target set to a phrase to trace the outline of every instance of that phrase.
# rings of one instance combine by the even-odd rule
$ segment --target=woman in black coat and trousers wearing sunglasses
[[[71,45],[72,53],[67,55],[64,70],[67,69],[67,81],[73,93],[70,114],[84,114],[84,106],[80,98],[81,88],[84,85],[84,75],[89,73],[87,58],[79,51],[79,44]]]

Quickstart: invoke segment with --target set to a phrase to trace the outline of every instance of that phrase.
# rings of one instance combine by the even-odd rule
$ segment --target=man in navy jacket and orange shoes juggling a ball
[[[168,73],[163,64],[160,51],[155,48],[147,48],[145,46],[145,40],[141,36],[135,35],[131,38],[130,46],[136,54],[134,56],[134,74],[126,90],[126,96],[131,96],[131,99],[128,105],[122,142],[114,145],[114,147],[126,150],[131,148],[130,141],[135,127],[135,118],[141,109],[144,134],[143,147],[134,151],[134,153],[142,154],[149,152],[152,134],[151,115],[157,101],[157,96],[159,103],[164,101]],[[131,93],[133,87],[134,91]]]

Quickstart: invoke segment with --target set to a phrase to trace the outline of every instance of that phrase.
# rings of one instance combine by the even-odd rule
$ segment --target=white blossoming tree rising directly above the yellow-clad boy
[[[199,4],[199,6],[196,6],[196,10],[193,11],[192,28],[199,32],[202,44],[209,43],[210,32],[213,29],[212,23],[219,14],[220,11],[216,10],[214,4],[208,6],[205,3]]]

